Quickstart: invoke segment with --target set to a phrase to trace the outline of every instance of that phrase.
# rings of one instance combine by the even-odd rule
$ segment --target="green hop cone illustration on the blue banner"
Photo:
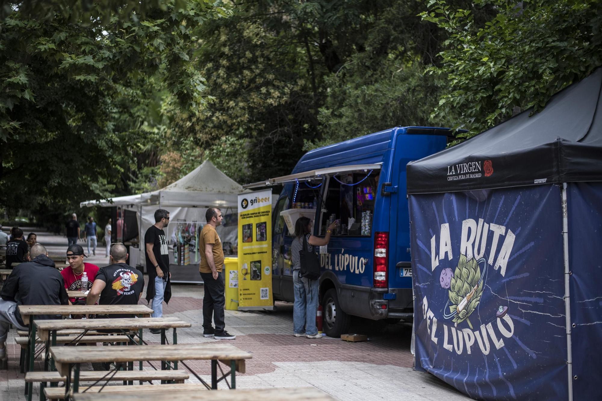
[[[458,266],[452,277],[452,284],[448,291],[450,299],[450,312],[457,312],[453,318],[453,322],[458,323],[466,322],[471,329],[473,329],[472,323],[468,320],[468,316],[474,309],[479,305],[479,300],[483,293],[483,282],[479,283],[481,278],[481,271],[479,264],[476,260],[466,260],[466,256],[460,255]]]

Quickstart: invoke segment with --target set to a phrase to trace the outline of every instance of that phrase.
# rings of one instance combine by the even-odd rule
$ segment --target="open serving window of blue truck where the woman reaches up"
[[[339,220],[334,236],[369,237],[372,234],[374,201],[380,170],[330,176],[322,205],[320,235]]]

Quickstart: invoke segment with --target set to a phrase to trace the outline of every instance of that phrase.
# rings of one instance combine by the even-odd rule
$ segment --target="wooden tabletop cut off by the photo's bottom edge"
[[[183,385],[186,386],[186,385]],[[151,387],[151,386],[144,386]],[[105,387],[106,388],[106,387]],[[112,389],[114,390],[114,389]],[[138,390],[138,388],[137,388]],[[150,390],[150,389],[149,389]],[[127,399],[128,401],[331,401],[329,394],[315,387],[285,387],[285,388],[249,388],[236,391],[197,391],[186,390],[182,387],[177,391],[161,391],[160,386],[155,386],[153,391],[111,391],[110,393],[78,393],[73,394],[73,401],[114,401]]]

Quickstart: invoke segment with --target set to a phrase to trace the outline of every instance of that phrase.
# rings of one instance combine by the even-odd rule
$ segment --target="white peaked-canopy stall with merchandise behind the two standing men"
[[[166,235],[169,238],[170,266],[172,282],[202,282],[199,275],[200,255],[197,250],[198,234],[205,225],[205,212],[209,207],[222,210],[224,220],[217,228],[226,255],[236,255],[238,242],[237,196],[243,188],[226,176],[210,161],[173,184],[157,191],[139,195],[129,195],[102,201],[81,202],[81,207],[113,207],[115,233],[128,230],[127,222],[119,226],[120,216],[135,213],[137,217],[137,237],[144,241],[144,233],[154,225],[154,213],[165,209],[170,213],[170,224]],[[130,224],[131,226],[132,224]],[[131,231],[131,229],[129,230]],[[115,234],[115,239],[117,239]],[[122,237],[124,234],[122,234]],[[138,242],[134,239],[135,242]],[[119,241],[120,242],[120,241]],[[130,247],[130,263],[144,269],[146,256],[144,247]]]

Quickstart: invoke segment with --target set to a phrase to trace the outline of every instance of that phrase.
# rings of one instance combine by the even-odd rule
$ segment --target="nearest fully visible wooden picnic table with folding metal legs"
[[[211,389],[217,390],[217,382],[231,376],[231,388],[236,388],[236,370],[244,371],[244,361],[253,358],[249,352],[232,344],[196,343],[172,345],[148,345],[141,347],[51,347],[55,366],[61,376],[67,378],[65,387],[69,389],[69,378],[73,370],[73,393],[79,391],[79,365],[87,362],[134,362],[134,361],[166,361],[178,362],[211,361]],[[230,365],[230,371],[222,378],[217,377],[217,361]],[[167,365],[169,370],[170,365]],[[162,369],[162,370],[163,370]],[[197,376],[199,378],[199,376]],[[202,384],[205,382],[201,381]],[[207,388],[209,386],[205,384]],[[131,391],[135,393],[135,390]]]

